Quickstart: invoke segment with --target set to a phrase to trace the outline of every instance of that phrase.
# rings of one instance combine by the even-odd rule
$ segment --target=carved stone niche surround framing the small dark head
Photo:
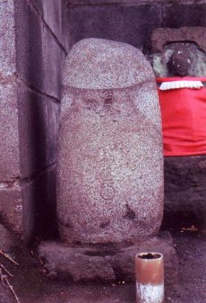
[[[151,34],[151,64],[156,76],[170,76],[167,63],[173,52],[185,47],[193,59],[188,76],[206,75],[206,29],[201,26],[179,29],[159,28]]]

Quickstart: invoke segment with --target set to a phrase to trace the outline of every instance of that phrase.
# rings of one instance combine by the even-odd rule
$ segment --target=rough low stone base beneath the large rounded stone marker
[[[67,281],[135,281],[134,255],[158,252],[164,255],[165,283],[176,284],[178,261],[172,236],[142,239],[135,245],[75,245],[44,242],[39,257],[44,260],[48,275]]]

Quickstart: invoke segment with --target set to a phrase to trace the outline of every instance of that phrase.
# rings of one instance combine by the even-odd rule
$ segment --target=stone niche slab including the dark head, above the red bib
[[[149,58],[157,77],[206,75],[206,30],[204,27],[159,28],[151,34]],[[172,61],[183,71],[174,70]],[[176,68],[175,67],[175,68]],[[185,75],[184,75],[185,74]]]

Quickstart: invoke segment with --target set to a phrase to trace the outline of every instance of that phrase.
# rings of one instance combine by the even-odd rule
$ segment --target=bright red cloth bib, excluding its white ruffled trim
[[[206,77],[158,78],[171,81],[201,81]],[[159,89],[164,156],[206,155],[206,87]]]

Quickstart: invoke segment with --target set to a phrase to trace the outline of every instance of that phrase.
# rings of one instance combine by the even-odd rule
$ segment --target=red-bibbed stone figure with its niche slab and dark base
[[[163,121],[163,227],[190,222],[202,229],[206,218],[206,29],[159,28],[151,36],[150,58]]]

